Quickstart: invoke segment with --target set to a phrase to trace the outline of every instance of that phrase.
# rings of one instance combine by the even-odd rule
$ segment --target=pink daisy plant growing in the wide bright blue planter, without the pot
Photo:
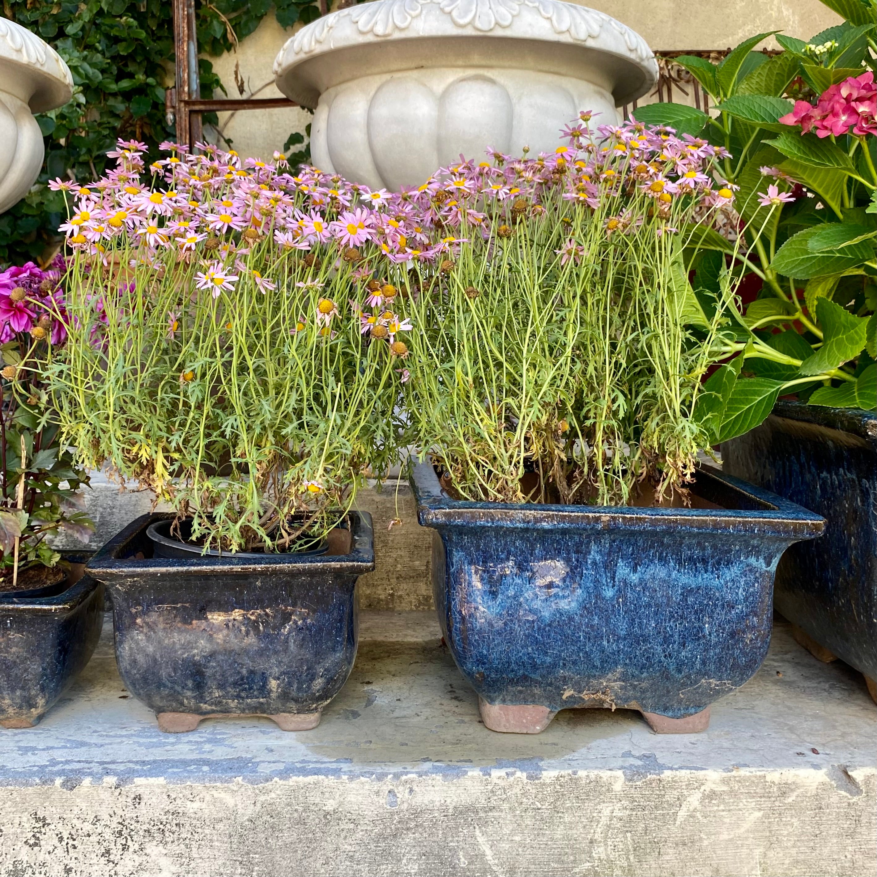
[[[588,118],[553,155],[425,184],[453,258],[410,270],[407,409],[469,500],[678,499],[709,448],[702,377],[734,342],[738,278],[695,290],[688,253],[703,232],[734,248],[715,231],[733,200],[713,188],[719,153]]]

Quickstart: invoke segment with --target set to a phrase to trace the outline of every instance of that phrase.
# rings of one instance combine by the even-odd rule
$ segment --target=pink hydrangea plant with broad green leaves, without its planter
[[[737,189],[745,246],[734,253],[705,234],[692,263],[695,289],[715,289],[729,259],[761,287],[745,309],[731,309],[737,358],[706,384],[717,442],[759,424],[780,396],[877,407],[877,4],[824,3],[845,22],[806,43],[778,35],[784,51],[774,57],[752,51],[770,35],[762,33],[718,65],[677,59],[717,118],[674,104],[635,113],[650,123],[681,119],[734,156],[722,170]]]

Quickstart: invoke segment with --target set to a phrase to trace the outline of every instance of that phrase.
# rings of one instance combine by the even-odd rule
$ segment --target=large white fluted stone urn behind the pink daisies
[[[616,124],[657,78],[637,33],[559,0],[372,0],[303,27],[275,60],[277,87],[315,111],[317,168],[388,189],[488,146],[553,152],[580,110]]]

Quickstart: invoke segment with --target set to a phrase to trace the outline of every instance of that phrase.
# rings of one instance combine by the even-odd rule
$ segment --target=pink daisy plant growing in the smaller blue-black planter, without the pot
[[[120,143],[93,194],[53,183],[71,199],[68,342],[46,366],[61,432],[205,550],[309,547],[403,437],[408,327],[351,303],[372,295],[365,211],[284,162],[171,145],[145,171],[142,146]]]

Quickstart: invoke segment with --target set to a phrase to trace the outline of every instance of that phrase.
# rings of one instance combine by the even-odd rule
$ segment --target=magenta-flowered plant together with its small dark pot
[[[0,725],[37,724],[88,662],[100,637],[103,588],[53,549],[88,541],[88,477],[50,420],[42,363],[63,344],[63,261],[0,272]]]

